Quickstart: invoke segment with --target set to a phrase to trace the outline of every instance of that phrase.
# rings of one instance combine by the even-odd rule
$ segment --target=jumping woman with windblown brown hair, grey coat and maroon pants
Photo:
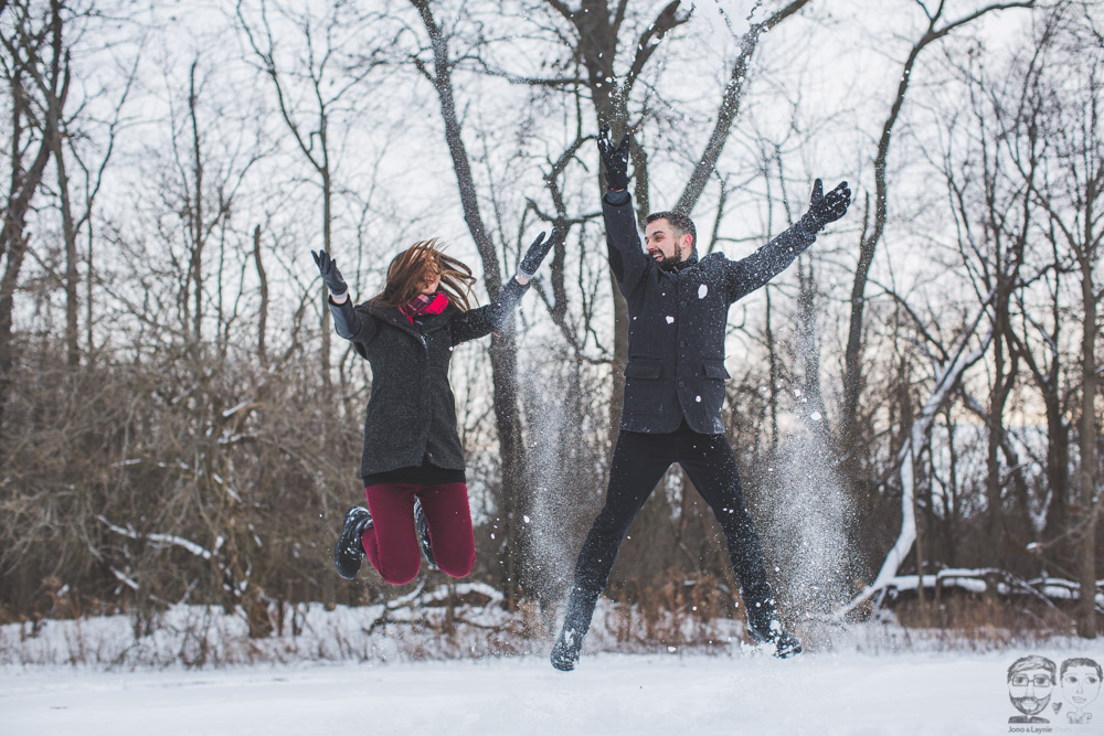
[[[395,256],[383,291],[355,308],[333,259],[311,253],[330,289],[333,327],[372,364],[360,463],[368,509],[346,513],[333,547],[341,577],[354,578],[368,555],[384,580],[408,583],[421,567],[420,545],[447,575],[471,572],[475,537],[448,361],[455,345],[506,321],[556,236],[555,228],[546,241],[541,233],[498,298],[478,309],[468,308],[471,269],[436,241]]]

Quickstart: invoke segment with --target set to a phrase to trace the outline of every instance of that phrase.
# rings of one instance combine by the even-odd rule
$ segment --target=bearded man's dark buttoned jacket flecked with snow
[[[741,260],[720,253],[698,260],[696,250],[669,271],[641,248],[626,193],[607,193],[602,214],[609,267],[628,302],[620,428],[675,431],[684,417],[694,431],[722,434],[729,307],[782,273],[816,235],[796,224]]]

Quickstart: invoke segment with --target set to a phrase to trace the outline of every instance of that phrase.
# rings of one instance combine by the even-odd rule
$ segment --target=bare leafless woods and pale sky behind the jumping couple
[[[730,313],[724,420],[792,625],[1104,621],[1100,2],[0,0],[0,621],[139,636],[187,604],[263,639],[438,588],[546,637],[627,361],[602,122],[700,255],[752,253],[815,178],[854,192]],[[310,249],[363,300],[439,236],[486,303],[552,225],[453,359],[476,585],[340,580],[371,373]],[[609,595],[740,618],[678,468]]]

